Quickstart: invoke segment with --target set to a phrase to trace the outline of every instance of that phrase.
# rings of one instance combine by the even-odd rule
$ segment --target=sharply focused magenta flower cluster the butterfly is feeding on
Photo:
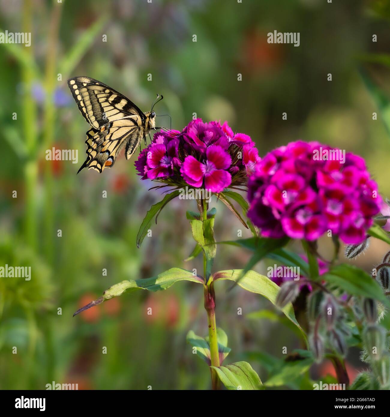
[[[257,148],[228,124],[191,121],[183,131],[157,132],[135,163],[142,179],[220,193],[247,183],[260,161]]]

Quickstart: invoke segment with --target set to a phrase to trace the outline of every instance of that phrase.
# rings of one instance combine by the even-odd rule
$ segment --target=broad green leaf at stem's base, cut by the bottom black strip
[[[263,389],[259,375],[248,362],[235,362],[215,369],[222,384],[227,389],[259,390]]]

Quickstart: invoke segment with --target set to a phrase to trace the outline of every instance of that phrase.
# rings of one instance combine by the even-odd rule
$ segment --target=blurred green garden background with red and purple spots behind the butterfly
[[[134,158],[76,176],[88,125],[68,78],[101,80],[143,111],[163,94],[155,111],[170,113],[172,128],[194,113],[227,120],[252,136],[260,155],[299,138],[358,153],[390,196],[389,19],[389,3],[379,0],[1,1],[0,32],[31,32],[31,46],[0,44],[0,265],[31,266],[32,278],[0,278],[0,389],[45,389],[52,381],[79,389],[210,387],[209,369],[185,341],[189,329],[207,332],[198,286],[137,292],[72,317],[116,282],[172,266],[201,269],[201,259],[183,261],[194,245],[185,217],[196,209],[191,201],[171,202],[137,249],[138,227],[161,196],[136,176]],[[300,46],[268,44],[274,30],[299,32]],[[169,128],[169,118],[159,123]],[[78,164],[46,161],[52,147],[78,149]],[[241,225],[216,206],[217,241],[237,239]],[[360,266],[371,269],[385,250],[372,245]],[[220,246],[214,270],[248,259]],[[247,317],[272,309],[267,300],[227,288],[216,288],[216,320],[229,337],[228,360],[247,359],[266,377],[267,353],[282,357],[283,346],[291,351],[302,341],[281,323]],[[352,350],[352,377],[362,367],[357,357]],[[328,372],[324,362],[312,376]]]

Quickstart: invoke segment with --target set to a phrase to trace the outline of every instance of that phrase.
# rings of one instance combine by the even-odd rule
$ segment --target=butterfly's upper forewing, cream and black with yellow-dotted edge
[[[146,119],[131,100],[93,78],[70,78],[68,86],[81,114],[95,129],[126,116],[138,116],[141,121]]]

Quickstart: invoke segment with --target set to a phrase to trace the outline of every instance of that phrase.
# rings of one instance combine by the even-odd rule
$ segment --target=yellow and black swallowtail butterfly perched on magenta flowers
[[[153,106],[162,100],[157,94],[151,111],[143,113],[133,102],[108,85],[89,77],[73,77],[68,86],[81,114],[92,126],[87,134],[87,159],[83,168],[103,172],[111,168],[120,151],[126,147],[126,159],[145,141],[151,129],[156,129]]]

